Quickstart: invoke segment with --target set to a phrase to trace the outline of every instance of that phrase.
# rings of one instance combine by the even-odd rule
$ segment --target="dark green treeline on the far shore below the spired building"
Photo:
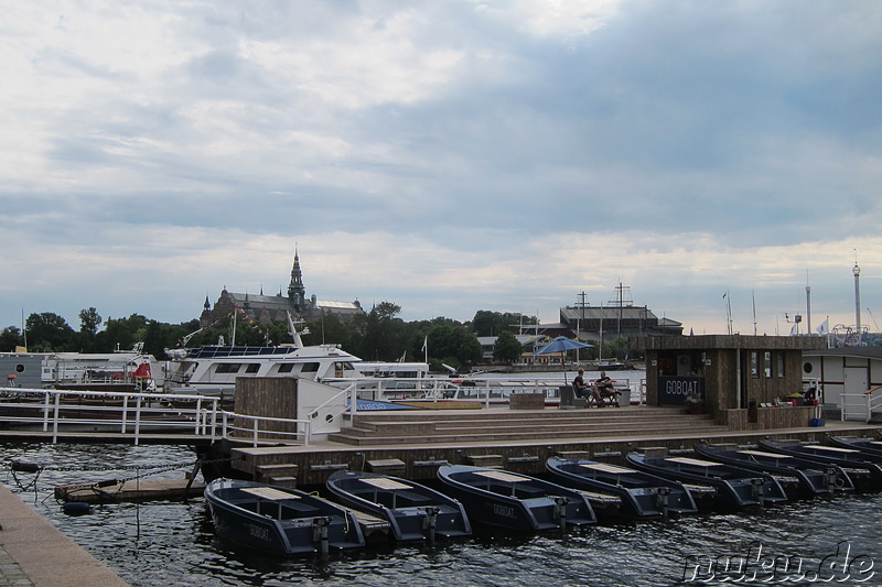
[[[482,362],[478,336],[498,336],[494,360],[515,361],[523,352],[515,333],[520,326],[536,324],[535,316],[488,311],[478,311],[474,319],[466,323],[444,317],[405,322],[399,317],[401,307],[397,304],[383,302],[370,312],[355,316],[349,323],[334,315],[325,315],[305,324],[308,334],[303,334],[302,339],[305,345],[340,345],[343,350],[364,360],[395,361],[404,357],[408,361],[421,361],[426,357],[426,348],[432,369],[441,370],[442,362],[454,368]],[[128,350],[137,343],[143,343],[144,352],[160,359],[165,357],[166,348],[215,345],[222,338],[225,344],[232,344],[234,334],[232,318],[201,330],[200,322],[195,318],[166,324],[132,314],[127,318],[104,320],[94,307],[79,312],[78,330],[62,316],[49,312],[31,314],[24,323],[24,329],[30,352],[111,352],[116,349]],[[237,320],[235,343],[279,345],[291,343],[291,337],[283,323]],[[0,351],[13,351],[23,346],[25,336],[20,328],[9,326],[0,331]]]

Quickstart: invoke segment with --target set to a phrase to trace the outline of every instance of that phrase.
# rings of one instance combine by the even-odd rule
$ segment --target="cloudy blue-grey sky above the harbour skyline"
[[[3,4],[0,327],[187,320],[297,249],[408,320],[622,283],[696,334],[806,285],[854,325],[857,260],[880,329],[876,0]]]

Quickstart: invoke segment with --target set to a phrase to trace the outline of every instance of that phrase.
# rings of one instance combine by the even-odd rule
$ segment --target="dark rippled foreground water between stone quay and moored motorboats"
[[[778,569],[777,584],[815,583],[811,579],[817,577],[810,573],[817,574],[820,568],[818,581],[845,578],[839,584],[882,585],[880,493],[796,501],[753,513],[601,524],[563,536],[484,532],[434,547],[372,547],[321,562],[239,551],[218,541],[202,498],[186,503],[96,506],[92,514],[71,517],[61,511],[52,496],[56,485],[143,476],[154,470],[159,471],[157,476],[180,478],[194,459],[186,447],[13,444],[4,445],[3,454],[7,466],[2,481],[133,586],[767,585],[761,579],[772,576],[768,561],[775,556],[787,557],[790,563],[786,572]],[[13,476],[8,467],[13,459],[46,465],[47,469],[33,483],[33,474]],[[140,467],[137,471],[131,468],[136,463]],[[159,468],[164,466],[178,468]],[[23,488],[25,483],[33,485]],[[749,567],[752,573],[759,572],[753,581],[745,580],[743,572],[735,573],[732,565],[725,573],[724,557],[730,563],[739,557],[756,561],[760,545],[759,561],[770,570],[763,573],[754,563]],[[850,566],[842,565],[846,547],[850,547],[849,557],[854,561]],[[795,572],[797,562],[803,564],[803,580],[796,580],[800,577]],[[868,569],[867,562],[879,564]],[[699,580],[684,580],[685,573],[686,578]]]

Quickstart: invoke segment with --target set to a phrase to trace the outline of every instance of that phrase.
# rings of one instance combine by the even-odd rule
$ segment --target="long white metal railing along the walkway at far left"
[[[52,389],[0,389],[0,423],[36,430],[58,442],[65,431],[132,435],[186,431],[215,439],[219,398]]]

